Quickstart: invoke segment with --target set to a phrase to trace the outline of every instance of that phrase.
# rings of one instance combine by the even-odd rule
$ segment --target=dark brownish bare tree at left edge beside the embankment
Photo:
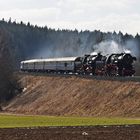
[[[0,101],[11,99],[19,89],[8,47],[8,36],[0,31]]]

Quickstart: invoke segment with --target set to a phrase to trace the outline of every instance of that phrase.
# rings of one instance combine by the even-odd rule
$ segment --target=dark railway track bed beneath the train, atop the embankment
[[[114,77],[114,76],[93,76],[93,75],[80,75],[80,74],[73,74],[73,73],[35,73],[35,72],[19,72],[20,75],[32,75],[32,76],[57,76],[57,77],[80,77],[85,79],[95,79],[95,80],[111,80],[111,81],[132,81],[132,82],[140,82],[140,76],[133,76],[133,77]]]

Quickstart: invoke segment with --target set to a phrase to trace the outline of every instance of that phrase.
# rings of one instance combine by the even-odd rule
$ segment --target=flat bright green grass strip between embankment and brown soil
[[[140,119],[0,115],[0,128],[140,124]]]

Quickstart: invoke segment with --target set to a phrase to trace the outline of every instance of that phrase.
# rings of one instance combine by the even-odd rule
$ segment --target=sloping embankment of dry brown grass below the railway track
[[[140,117],[140,83],[79,77],[22,76],[22,94],[6,112],[65,116]]]

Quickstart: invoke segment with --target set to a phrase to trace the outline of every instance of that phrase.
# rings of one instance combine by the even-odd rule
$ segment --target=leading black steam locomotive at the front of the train
[[[132,76],[134,61],[136,57],[129,53],[111,54],[106,60],[106,72],[108,75]]]

